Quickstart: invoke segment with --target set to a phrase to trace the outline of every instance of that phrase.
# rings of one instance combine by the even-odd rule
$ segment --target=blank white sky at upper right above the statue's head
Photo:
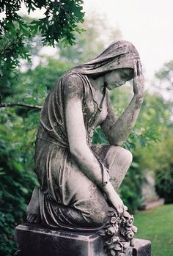
[[[104,14],[109,26],[118,26],[138,49],[147,78],[173,59],[172,0],[84,0],[84,10]]]

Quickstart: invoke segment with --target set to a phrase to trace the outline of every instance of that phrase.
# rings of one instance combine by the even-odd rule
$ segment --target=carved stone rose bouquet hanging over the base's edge
[[[97,233],[103,236],[104,249],[108,255],[124,256],[128,248],[133,247],[133,236],[137,227],[133,226],[134,218],[128,211],[118,216],[114,208],[108,209],[108,222]]]

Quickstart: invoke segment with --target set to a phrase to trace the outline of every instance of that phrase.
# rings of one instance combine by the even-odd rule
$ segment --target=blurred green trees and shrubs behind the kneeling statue
[[[82,22],[81,9],[76,13],[80,16],[77,22]],[[35,29],[31,30],[28,23],[34,24]],[[108,27],[99,15],[85,18],[79,29],[68,29],[72,29],[76,44],[67,31],[58,42],[49,37],[43,40],[43,30],[37,29],[36,23],[28,17],[16,16],[10,22],[8,17],[4,21],[0,37],[2,103],[43,106],[46,95],[65,71],[92,59],[103,51],[106,43],[122,37],[119,29]],[[46,42],[55,45],[54,56],[46,54],[48,48],[43,48]],[[165,91],[172,92],[172,70],[173,61],[155,74],[155,83],[150,84],[152,93],[146,91],[139,119],[124,145],[133,153],[133,163],[119,194],[130,213],[144,204],[142,186],[147,183],[147,173],[155,179],[158,195],[166,203],[173,202],[172,98],[164,97]],[[114,110],[120,115],[133,97],[132,84],[114,90],[110,96]],[[15,252],[15,226],[26,221],[26,205],[32,190],[38,186],[33,156],[40,109],[14,106],[0,111],[0,255],[4,256]],[[98,127],[93,143],[106,142]]]

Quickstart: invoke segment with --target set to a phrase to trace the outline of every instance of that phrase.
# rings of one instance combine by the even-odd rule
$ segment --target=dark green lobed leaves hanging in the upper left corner
[[[54,46],[59,40],[73,45],[74,33],[81,32],[77,23],[84,22],[82,0],[25,0],[28,12],[36,8],[44,10],[44,18],[31,22],[18,15],[21,2],[0,2],[0,13],[5,14],[0,22],[0,70],[4,77],[10,76],[10,71],[18,67],[19,58],[30,60],[27,43],[31,37],[41,34],[43,45]]]

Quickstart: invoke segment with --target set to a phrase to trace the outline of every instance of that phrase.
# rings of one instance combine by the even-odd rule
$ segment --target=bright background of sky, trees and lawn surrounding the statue
[[[83,7],[84,23],[78,26],[85,32],[76,33],[76,45],[65,47],[60,41],[55,48],[43,46],[40,31],[28,37],[29,27],[20,27],[15,21],[15,29],[23,33],[25,40],[15,62],[16,55],[12,52],[16,50],[15,44],[10,45],[13,37],[16,40],[15,32],[12,38],[8,37],[8,31],[4,33],[6,38],[0,37],[0,52],[4,56],[1,58],[4,66],[0,68],[0,75],[4,68],[0,100],[15,105],[0,109],[0,255],[15,252],[14,228],[26,221],[26,205],[33,188],[38,186],[33,172],[34,142],[45,97],[71,67],[97,56],[112,40],[123,39],[129,40],[139,51],[146,91],[139,119],[123,145],[133,153],[133,163],[119,195],[130,213],[135,214],[135,224],[139,227],[137,236],[152,241],[152,256],[172,256],[173,1],[84,0]],[[18,14],[25,24],[33,18],[44,18],[44,12],[44,9],[35,10],[28,17],[22,4]],[[0,19],[3,17],[4,13]],[[8,24],[10,29],[11,25]],[[25,47],[28,47],[30,62],[25,56],[22,59]],[[14,67],[6,63],[9,52],[9,63]],[[119,116],[133,97],[132,82],[115,89],[110,97]],[[32,107],[16,106],[18,102]],[[99,127],[93,143],[107,143]],[[159,204],[161,206],[156,208]]]

